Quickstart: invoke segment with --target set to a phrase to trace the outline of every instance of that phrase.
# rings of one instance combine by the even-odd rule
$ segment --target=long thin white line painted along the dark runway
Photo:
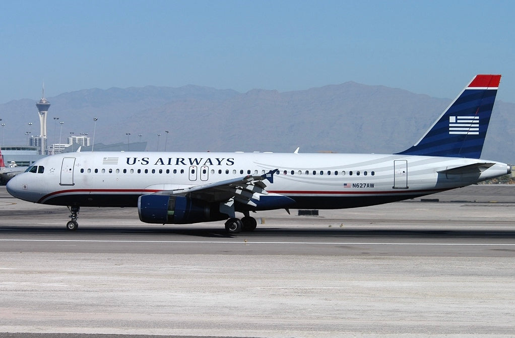
[[[515,243],[418,243],[418,242],[251,242],[248,241],[124,241],[89,239],[0,239],[0,242],[95,242],[95,243],[182,243],[182,244],[321,244],[321,245],[462,245],[462,246],[515,246]]]

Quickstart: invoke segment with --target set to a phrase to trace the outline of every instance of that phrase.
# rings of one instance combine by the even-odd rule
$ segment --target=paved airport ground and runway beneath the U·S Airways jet
[[[0,332],[509,335],[514,189],[318,217],[259,212],[255,232],[227,235],[219,222],[149,226],[111,208],[82,208],[68,232],[66,208],[3,187]]]

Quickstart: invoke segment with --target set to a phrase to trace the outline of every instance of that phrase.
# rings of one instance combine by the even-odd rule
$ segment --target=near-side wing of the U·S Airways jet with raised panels
[[[237,179],[219,181],[209,184],[197,185],[184,189],[162,190],[156,194],[179,195],[191,199],[199,199],[208,202],[226,202],[234,200],[239,203],[256,206],[251,200],[258,200],[261,194],[267,195],[264,180],[273,183],[273,174],[278,169],[270,170],[264,175],[247,175]]]

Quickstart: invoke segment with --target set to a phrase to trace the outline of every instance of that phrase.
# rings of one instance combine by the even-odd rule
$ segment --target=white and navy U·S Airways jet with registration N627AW
[[[417,143],[395,154],[76,152],[47,156],[7,184],[16,198],[70,209],[137,207],[142,222],[226,221],[250,212],[343,209],[402,201],[509,174],[480,159],[501,75],[477,75]],[[243,214],[237,218],[235,213]]]

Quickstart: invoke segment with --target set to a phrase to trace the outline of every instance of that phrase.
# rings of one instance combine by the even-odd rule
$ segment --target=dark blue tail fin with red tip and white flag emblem
[[[476,75],[433,126],[398,154],[479,158],[501,75]]]

